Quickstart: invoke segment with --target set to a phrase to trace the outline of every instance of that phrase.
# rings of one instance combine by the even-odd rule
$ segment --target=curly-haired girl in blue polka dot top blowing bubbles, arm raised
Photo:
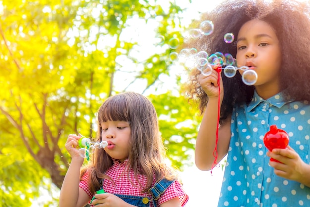
[[[219,207],[310,206],[309,14],[307,2],[225,1],[202,15],[214,32],[188,43],[208,54],[230,53],[238,67],[258,75],[252,86],[242,82],[242,70],[233,78],[196,69],[190,76],[189,94],[204,113],[196,166],[210,170],[214,149],[218,160],[228,153]],[[236,36],[233,43],[223,40],[226,33]],[[264,146],[271,125],[289,134],[286,149]]]

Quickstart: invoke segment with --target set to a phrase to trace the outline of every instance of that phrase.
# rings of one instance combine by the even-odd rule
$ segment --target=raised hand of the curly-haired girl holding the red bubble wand
[[[218,97],[218,87],[221,87],[221,98],[223,97],[223,82],[221,74],[218,75],[218,72],[215,70],[217,68],[216,65],[213,65],[213,71],[211,75],[205,76],[200,74],[198,76],[198,83],[203,88],[205,93],[209,98]],[[220,86],[217,84],[218,76],[220,77]]]

